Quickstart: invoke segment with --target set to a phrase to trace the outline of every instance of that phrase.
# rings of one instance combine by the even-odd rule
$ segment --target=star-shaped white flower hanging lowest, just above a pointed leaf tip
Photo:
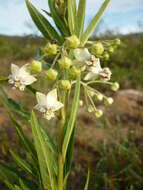
[[[57,100],[57,90],[50,91],[47,95],[37,92],[36,99],[38,104],[35,109],[43,113],[44,118],[47,120],[55,117],[55,111],[61,109],[64,105]]]

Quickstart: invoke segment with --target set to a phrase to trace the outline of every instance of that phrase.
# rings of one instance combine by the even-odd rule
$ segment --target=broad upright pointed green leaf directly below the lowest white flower
[[[47,182],[49,179],[50,187],[52,188],[52,190],[54,190],[56,174],[55,174],[55,169],[53,168],[54,166],[53,163],[55,162],[55,159],[53,157],[52,152],[50,151],[49,145],[45,140],[45,136],[41,132],[41,127],[38,124],[34,112],[32,112],[31,114],[31,126],[32,126],[32,134],[34,138],[35,148],[37,151],[42,179],[43,182],[46,183],[44,185],[46,185],[47,187]],[[46,173],[45,169],[47,169],[49,176],[43,175],[44,173]],[[50,189],[50,187],[48,188]]]

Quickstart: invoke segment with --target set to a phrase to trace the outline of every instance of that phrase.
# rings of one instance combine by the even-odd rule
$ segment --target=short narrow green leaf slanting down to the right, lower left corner
[[[12,150],[10,150],[10,153],[19,167],[23,168],[28,173],[34,175],[32,169],[31,169],[31,166],[25,160],[23,160],[18,155],[16,155]]]

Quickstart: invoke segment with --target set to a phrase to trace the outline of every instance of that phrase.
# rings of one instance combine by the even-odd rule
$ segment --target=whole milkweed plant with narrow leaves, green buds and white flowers
[[[113,91],[119,88],[117,82],[110,81],[112,72],[108,67],[103,67],[102,62],[107,61],[120,45],[120,39],[90,40],[109,2],[104,1],[84,30],[86,0],[79,0],[78,6],[76,0],[48,0],[50,12],[44,10],[47,17],[26,0],[29,13],[47,45],[40,48],[31,63],[22,67],[11,64],[9,76],[0,78],[0,102],[6,108],[26,150],[23,157],[10,150],[18,165],[16,168],[0,162],[0,179],[10,190],[66,190],[78,107],[84,105],[89,114],[99,118],[103,111],[96,107],[96,102],[103,101],[105,105],[113,103],[111,97],[97,89],[101,85],[107,85]],[[48,17],[53,19],[55,27]],[[47,85],[47,94],[32,86],[41,77],[52,84],[50,87]],[[32,113],[8,97],[2,87],[6,82],[21,93],[28,90],[33,94],[35,106]],[[55,127],[59,131],[56,143],[40,123],[40,117],[36,118],[38,113],[46,122],[56,119]],[[33,141],[24,133],[15,114],[27,124],[30,122]],[[88,189],[88,182],[89,172],[85,190]]]

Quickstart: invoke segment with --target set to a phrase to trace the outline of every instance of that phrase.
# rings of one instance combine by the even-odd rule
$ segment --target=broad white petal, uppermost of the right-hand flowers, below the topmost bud
[[[89,60],[91,54],[89,53],[88,49],[87,48],[84,48],[84,49],[75,49],[74,50],[74,55],[75,55],[75,58],[78,60],[78,61],[87,61]]]

